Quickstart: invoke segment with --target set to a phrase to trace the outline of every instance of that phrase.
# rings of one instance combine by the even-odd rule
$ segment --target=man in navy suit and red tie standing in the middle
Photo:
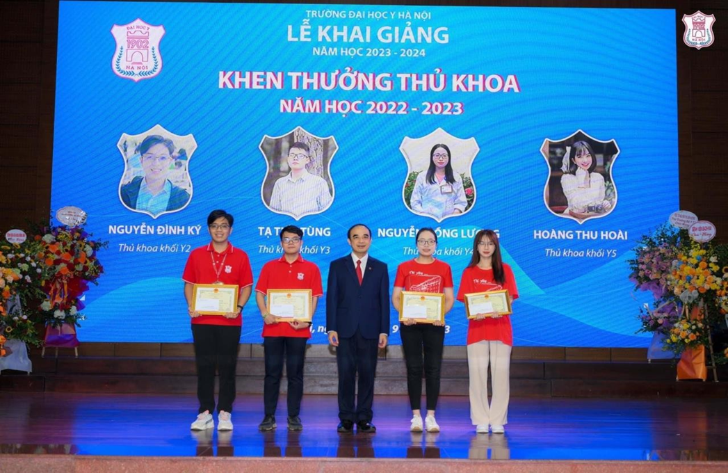
[[[369,256],[371,230],[365,224],[349,228],[352,253],[331,262],[326,289],[328,341],[336,348],[339,368],[339,427],[351,433],[373,433],[371,404],[379,348],[389,335],[389,273],[387,264]],[[359,395],[354,404],[355,376]]]

